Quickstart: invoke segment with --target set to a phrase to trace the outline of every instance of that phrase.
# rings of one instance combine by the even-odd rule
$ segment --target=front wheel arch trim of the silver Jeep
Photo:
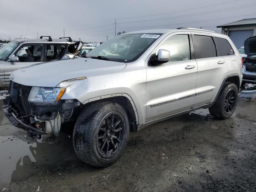
[[[126,93],[115,93],[115,94],[108,94],[104,96],[98,96],[95,98],[91,98],[82,102],[84,106],[88,106],[95,102],[104,102],[104,101],[111,101],[120,104],[126,113],[128,114],[129,123],[130,123],[130,131],[136,132],[137,126],[139,124],[139,116],[136,106],[132,98]]]

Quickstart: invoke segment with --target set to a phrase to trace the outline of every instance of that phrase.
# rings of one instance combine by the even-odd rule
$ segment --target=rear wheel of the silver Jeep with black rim
[[[209,108],[210,114],[218,119],[232,116],[238,101],[238,88],[234,83],[226,83],[215,104]]]

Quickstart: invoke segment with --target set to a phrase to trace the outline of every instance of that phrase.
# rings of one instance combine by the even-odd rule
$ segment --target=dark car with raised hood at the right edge
[[[244,41],[244,67],[242,69],[242,86],[246,83],[256,84],[256,36]]]

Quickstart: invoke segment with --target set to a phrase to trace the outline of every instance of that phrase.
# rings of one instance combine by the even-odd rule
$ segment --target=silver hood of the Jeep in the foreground
[[[113,73],[125,67],[121,62],[74,58],[24,67],[14,71],[10,79],[26,86],[55,87],[65,80]]]

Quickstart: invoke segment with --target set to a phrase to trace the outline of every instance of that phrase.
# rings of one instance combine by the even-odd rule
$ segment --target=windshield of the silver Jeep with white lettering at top
[[[100,44],[86,57],[116,62],[133,62],[162,34],[123,34]]]

